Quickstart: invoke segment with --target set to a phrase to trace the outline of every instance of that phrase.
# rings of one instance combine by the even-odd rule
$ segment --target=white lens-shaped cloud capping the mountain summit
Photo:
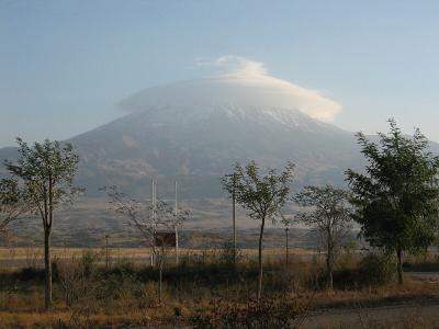
[[[199,60],[201,67],[212,67],[214,75],[199,80],[176,82],[142,90],[123,100],[128,112],[150,111],[167,106],[212,105],[278,107],[301,111],[313,118],[333,122],[341,104],[292,82],[268,75],[262,63],[238,56],[223,56],[213,61]],[[182,110],[183,111],[183,110]]]

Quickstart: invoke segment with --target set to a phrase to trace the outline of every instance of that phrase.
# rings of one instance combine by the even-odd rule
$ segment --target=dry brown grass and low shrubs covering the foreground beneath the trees
[[[2,249],[0,257],[10,258],[14,253],[15,258],[26,259],[37,251]],[[113,258],[106,268],[102,249],[57,249],[52,311],[43,311],[41,262],[3,269],[0,328],[294,328],[309,327],[308,319],[319,311],[347,308],[358,314],[354,319],[360,328],[437,325],[434,318],[416,313],[406,313],[403,318],[392,319],[392,324],[365,319],[372,306],[439,305],[438,281],[408,277],[399,286],[394,283],[394,266],[389,260],[348,250],[337,262],[335,290],[328,291],[323,256],[290,257],[286,266],[280,252],[267,253],[260,306],[255,300],[258,270],[254,252],[240,252],[236,268],[228,248],[185,250],[178,266],[169,253],[160,305],[158,270],[142,261],[147,257],[146,251],[111,250]],[[434,256],[409,261],[414,269],[438,266]],[[329,322],[327,328],[331,326],[340,328]]]

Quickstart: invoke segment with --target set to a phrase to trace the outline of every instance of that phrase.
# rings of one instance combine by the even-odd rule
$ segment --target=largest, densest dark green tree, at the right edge
[[[439,158],[415,129],[405,137],[394,120],[379,144],[357,134],[368,160],[364,173],[346,172],[357,207],[354,219],[371,246],[395,252],[403,283],[403,252],[419,252],[434,243],[438,227]]]

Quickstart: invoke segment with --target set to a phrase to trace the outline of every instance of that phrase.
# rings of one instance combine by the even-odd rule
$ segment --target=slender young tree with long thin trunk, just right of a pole
[[[260,222],[259,232],[259,280],[257,298],[260,302],[262,292],[262,239],[263,229],[268,219],[275,220],[280,215],[290,193],[290,183],[293,178],[294,164],[289,162],[281,173],[270,169],[267,174],[260,174],[259,167],[250,161],[246,167],[236,163],[234,174],[222,179],[224,189],[235,193],[235,198],[250,218]]]

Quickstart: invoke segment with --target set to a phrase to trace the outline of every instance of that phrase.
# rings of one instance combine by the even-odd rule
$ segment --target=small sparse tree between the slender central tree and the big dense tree
[[[331,185],[324,188],[305,186],[294,196],[295,202],[308,211],[299,213],[296,218],[314,228],[326,249],[328,286],[333,290],[333,268],[342,238],[350,229],[351,209],[348,192]]]

